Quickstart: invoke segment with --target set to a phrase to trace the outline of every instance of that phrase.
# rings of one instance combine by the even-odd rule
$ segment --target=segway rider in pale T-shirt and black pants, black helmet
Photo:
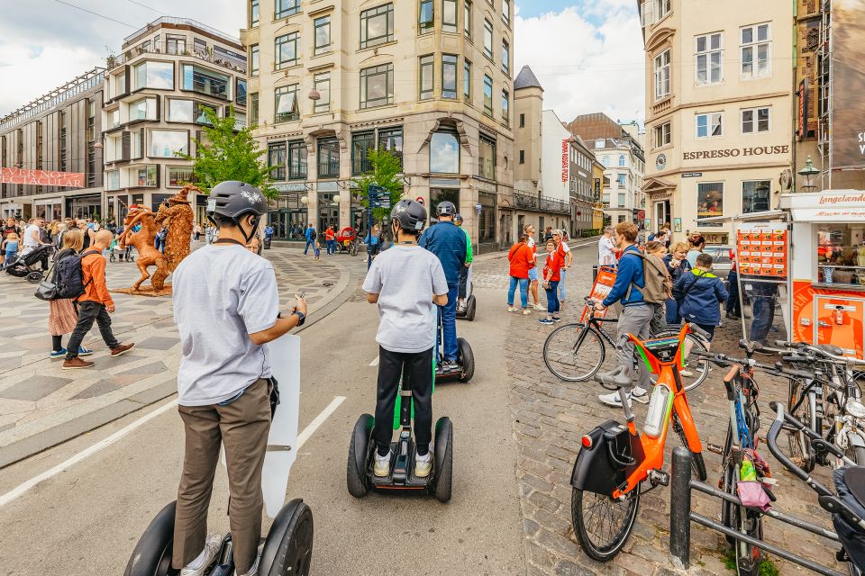
[[[438,257],[417,245],[426,210],[401,200],[391,212],[396,243],[373,260],[363,290],[378,303],[378,400],[372,437],[376,442],[373,473],[390,473],[394,408],[400,377],[411,382],[414,399],[414,476],[432,471],[432,366],[435,358],[436,306],[448,303],[448,281]],[[405,397],[403,397],[405,400]]]

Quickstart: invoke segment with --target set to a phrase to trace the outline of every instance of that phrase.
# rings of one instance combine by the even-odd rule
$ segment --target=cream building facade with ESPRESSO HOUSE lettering
[[[674,238],[727,244],[719,217],[778,206],[791,164],[792,4],[650,0],[646,58],[647,217]]]

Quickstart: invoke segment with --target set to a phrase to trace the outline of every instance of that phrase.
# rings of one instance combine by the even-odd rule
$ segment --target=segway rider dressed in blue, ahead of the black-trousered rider
[[[457,207],[453,202],[439,202],[435,211],[438,223],[423,232],[420,245],[442,262],[444,275],[448,280],[448,303],[439,306],[442,314],[442,371],[454,372],[459,369],[457,356],[457,295],[460,291],[460,270],[466,266],[469,248],[466,246],[465,233],[453,223]]]

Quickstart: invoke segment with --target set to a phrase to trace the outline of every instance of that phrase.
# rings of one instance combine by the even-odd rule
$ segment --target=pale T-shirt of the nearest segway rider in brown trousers
[[[173,282],[181,406],[229,400],[270,376],[267,347],[249,337],[277,323],[277,277],[268,260],[242,246],[205,246],[184,258]]]

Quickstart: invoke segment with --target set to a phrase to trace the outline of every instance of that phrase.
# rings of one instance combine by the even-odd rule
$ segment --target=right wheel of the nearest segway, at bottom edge
[[[308,576],[313,563],[313,511],[304,500],[288,502],[273,519],[259,561],[261,576]]]

